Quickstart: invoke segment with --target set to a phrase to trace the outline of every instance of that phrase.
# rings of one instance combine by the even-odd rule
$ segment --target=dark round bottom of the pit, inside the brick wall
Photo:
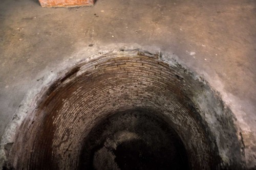
[[[188,169],[178,134],[156,114],[119,112],[103,119],[84,142],[80,169]]]

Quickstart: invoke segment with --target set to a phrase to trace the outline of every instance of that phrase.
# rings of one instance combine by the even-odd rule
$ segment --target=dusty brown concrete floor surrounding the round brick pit
[[[90,44],[93,44],[90,45]],[[256,167],[256,2],[98,0],[94,7],[0,5],[0,137],[60,71],[98,52],[161,51],[220,92]]]

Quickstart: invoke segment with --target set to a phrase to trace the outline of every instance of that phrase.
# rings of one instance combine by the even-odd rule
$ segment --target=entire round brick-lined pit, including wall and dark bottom
[[[160,55],[120,52],[53,83],[20,126],[6,166],[220,169],[223,150],[228,167],[241,167],[232,113],[206,82]]]

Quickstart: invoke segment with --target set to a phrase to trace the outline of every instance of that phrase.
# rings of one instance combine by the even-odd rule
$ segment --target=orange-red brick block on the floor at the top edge
[[[42,7],[93,6],[94,0],[39,0]]]

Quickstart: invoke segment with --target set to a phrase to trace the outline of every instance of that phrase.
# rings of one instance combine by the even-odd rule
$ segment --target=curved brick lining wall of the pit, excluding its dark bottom
[[[140,52],[103,55],[57,80],[19,128],[7,165],[76,169],[91,129],[126,110],[162,117],[181,138],[191,169],[242,167],[234,118],[218,95],[181,65]]]

